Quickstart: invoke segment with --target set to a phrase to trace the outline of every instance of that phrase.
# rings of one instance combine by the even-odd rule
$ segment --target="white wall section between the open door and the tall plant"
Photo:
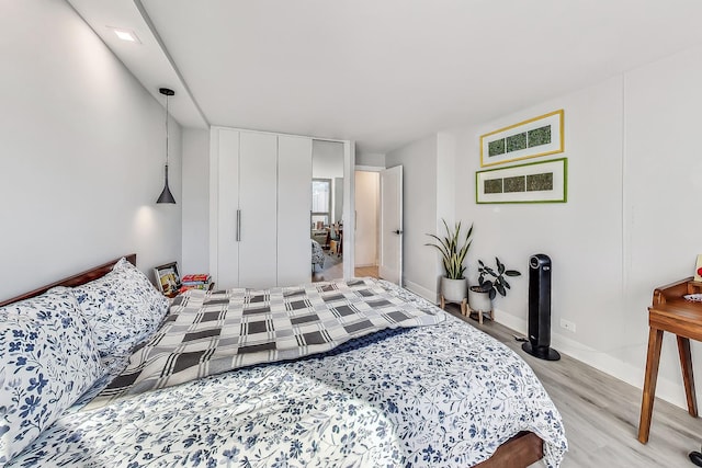
[[[437,136],[388,152],[385,162],[403,165],[403,284],[435,299],[439,260],[424,244],[437,231]]]

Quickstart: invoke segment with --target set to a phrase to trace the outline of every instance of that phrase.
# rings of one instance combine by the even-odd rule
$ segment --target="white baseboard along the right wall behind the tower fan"
[[[503,324],[505,327],[514,330],[524,336],[526,336],[529,330],[529,322],[524,319],[520,319],[512,315],[509,315],[502,310],[495,309],[495,321]],[[644,386],[644,369],[625,363],[616,357],[598,351],[593,347],[589,347],[582,343],[564,336],[559,333],[551,332],[551,345],[559,353],[567,354],[568,356],[578,359],[598,370],[603,372],[614,378],[625,381],[639,390]],[[671,381],[661,376],[658,376],[658,383],[656,384],[656,397],[668,401],[669,403],[680,407],[684,410],[688,409],[688,403],[684,398],[684,388],[681,384]]]

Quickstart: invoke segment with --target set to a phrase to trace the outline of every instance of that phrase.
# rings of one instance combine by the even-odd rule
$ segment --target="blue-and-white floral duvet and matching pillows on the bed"
[[[0,465],[467,467],[495,459],[524,432],[543,441],[547,466],[557,467],[567,449],[558,411],[519,356],[383,281],[363,283],[390,303],[407,303],[398,306],[405,313],[441,319],[90,404],[125,367],[150,363],[135,361],[139,351],[163,352],[155,340],[168,341],[158,331],[170,317],[162,297],[147,290],[145,278],[134,286],[138,271],[129,265],[105,271],[107,279],[93,279],[98,284],[66,283],[73,288],[37,296],[49,295],[42,299],[48,305],[32,304],[35,298],[0,308]],[[118,304],[122,281],[132,284],[128,310]],[[65,308],[73,322],[59,311]],[[47,336],[30,338],[43,329]],[[80,352],[72,353],[73,374],[61,375],[66,356],[52,330],[66,340],[81,329],[92,334],[73,333],[72,349]],[[44,352],[27,366],[37,349]],[[52,408],[57,400],[61,404]]]

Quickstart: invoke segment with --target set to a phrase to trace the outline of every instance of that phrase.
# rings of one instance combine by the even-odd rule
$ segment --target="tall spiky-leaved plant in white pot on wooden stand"
[[[433,238],[437,243],[427,243],[424,246],[434,247],[441,252],[441,260],[445,275],[441,278],[441,306],[444,306],[444,300],[451,303],[461,303],[462,311],[465,308],[465,299],[467,299],[468,284],[463,275],[465,266],[463,261],[471,248],[471,236],[473,235],[473,225],[465,235],[465,238],[461,237],[461,221],[457,221],[453,230],[449,229],[449,225],[445,219],[442,219],[443,226],[446,229],[446,236],[440,238],[428,233],[427,236]]]

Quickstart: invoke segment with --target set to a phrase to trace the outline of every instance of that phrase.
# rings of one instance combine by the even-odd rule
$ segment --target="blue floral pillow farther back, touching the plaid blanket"
[[[168,312],[168,299],[125,259],[101,278],[73,288],[101,356],[129,352]]]

